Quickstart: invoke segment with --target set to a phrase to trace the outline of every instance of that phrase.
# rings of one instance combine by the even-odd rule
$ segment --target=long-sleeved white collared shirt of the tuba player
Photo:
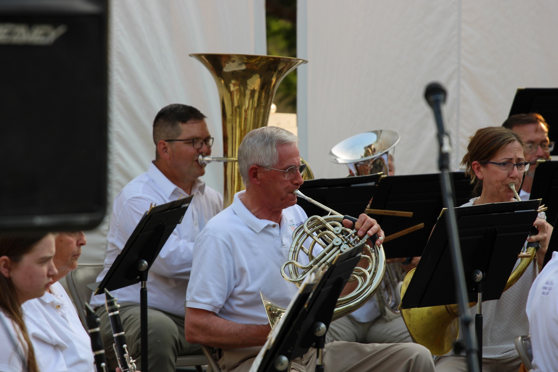
[[[194,240],[207,221],[223,209],[223,196],[203,181],[196,180],[191,192],[196,195],[182,223],[172,231],[147,277],[148,305],[179,316],[184,316],[184,295],[190,279]],[[153,163],[146,173],[134,178],[119,192],[114,199],[110,219],[104,269],[97,281],[107,274],[150,204],[164,204],[179,199],[181,195],[188,196]],[[138,283],[111,293],[118,298],[118,302],[140,303],[140,287]],[[91,305],[104,305],[104,295],[92,296]]]

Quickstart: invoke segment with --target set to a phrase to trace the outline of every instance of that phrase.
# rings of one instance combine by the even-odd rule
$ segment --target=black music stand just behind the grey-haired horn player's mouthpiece
[[[381,176],[382,173],[376,173],[368,176],[309,180],[302,183],[300,191],[333,210],[358,217],[364,213]],[[297,204],[304,209],[306,215],[324,215],[324,210],[319,206],[300,197],[298,199]]]

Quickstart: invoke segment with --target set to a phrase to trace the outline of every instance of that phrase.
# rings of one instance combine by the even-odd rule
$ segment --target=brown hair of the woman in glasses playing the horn
[[[472,167],[473,162],[490,161],[498,151],[510,143],[517,141],[523,148],[525,144],[519,134],[503,127],[481,128],[469,138],[467,153],[461,160],[461,164],[465,166],[465,175],[471,177],[471,183],[476,182],[473,194],[479,195],[483,189],[483,181],[477,179]]]

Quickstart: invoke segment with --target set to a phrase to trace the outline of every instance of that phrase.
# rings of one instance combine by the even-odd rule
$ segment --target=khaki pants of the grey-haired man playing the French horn
[[[259,347],[224,349],[219,359],[224,372],[247,372]],[[290,372],[314,372],[316,349],[291,362]],[[417,344],[357,344],[335,341],[325,345],[324,370],[328,372],[428,372],[434,361],[426,347]]]

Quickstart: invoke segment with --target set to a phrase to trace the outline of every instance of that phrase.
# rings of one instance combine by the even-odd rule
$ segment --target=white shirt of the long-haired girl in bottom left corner
[[[21,331],[14,327],[11,318],[0,309],[0,371],[21,372],[23,371],[22,358],[27,363],[27,345],[22,344]],[[23,346],[25,345],[25,347]]]

